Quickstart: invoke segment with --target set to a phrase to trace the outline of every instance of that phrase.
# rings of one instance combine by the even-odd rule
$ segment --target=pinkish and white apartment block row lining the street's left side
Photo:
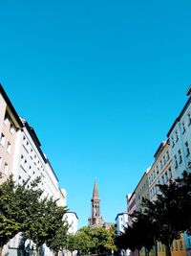
[[[40,141],[28,122],[19,117],[0,85],[0,184],[10,175],[15,182],[23,183],[41,177],[39,188],[43,198],[53,198],[59,206],[66,206],[66,191],[59,188],[58,178],[51,162],[41,150]],[[19,234],[4,246],[5,255],[17,255]],[[43,245],[44,255],[53,252]]]

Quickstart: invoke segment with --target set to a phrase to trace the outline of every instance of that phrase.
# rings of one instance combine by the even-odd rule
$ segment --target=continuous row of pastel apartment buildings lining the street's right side
[[[187,91],[188,100],[167,133],[167,140],[162,141],[154,154],[154,163],[142,175],[134,193],[127,200],[127,213],[132,214],[141,207],[142,197],[149,194],[154,201],[159,194],[158,184],[167,184],[185,170],[191,172],[191,87]],[[132,219],[129,218],[131,224]],[[186,232],[175,240],[171,247],[172,256],[191,255],[191,237]],[[151,255],[153,255],[151,252]],[[141,254],[141,252],[140,252]],[[141,255],[144,255],[141,254]],[[158,243],[158,255],[164,256],[164,246]]]

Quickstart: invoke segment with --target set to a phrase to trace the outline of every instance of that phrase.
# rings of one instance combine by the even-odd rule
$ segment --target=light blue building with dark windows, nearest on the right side
[[[181,176],[183,171],[191,173],[191,86],[187,94],[188,100],[180,111],[172,127],[167,133],[168,144],[172,157],[173,176]],[[191,255],[191,237],[184,232],[183,234],[186,255]],[[183,244],[183,246],[184,246]],[[176,251],[182,246],[179,242],[173,243]]]

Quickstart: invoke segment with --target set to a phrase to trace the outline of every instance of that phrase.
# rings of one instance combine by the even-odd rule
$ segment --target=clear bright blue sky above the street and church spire
[[[0,0],[0,82],[87,224],[115,221],[191,83],[191,1]]]

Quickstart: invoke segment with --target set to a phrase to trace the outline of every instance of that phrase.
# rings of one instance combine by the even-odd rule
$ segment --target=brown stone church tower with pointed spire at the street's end
[[[92,215],[91,218],[88,219],[89,226],[102,226],[104,221],[100,215],[100,199],[98,197],[98,189],[95,180],[94,190],[93,190],[93,198],[92,202]]]

